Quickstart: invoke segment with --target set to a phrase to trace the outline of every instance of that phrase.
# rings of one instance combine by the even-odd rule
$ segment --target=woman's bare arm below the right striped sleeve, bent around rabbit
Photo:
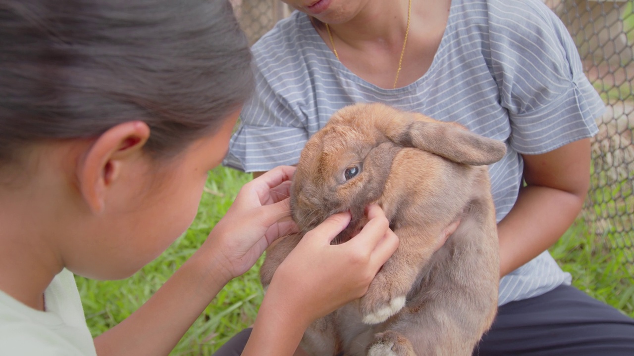
[[[566,232],[590,184],[590,139],[522,157],[526,186],[498,224],[500,276],[526,264]]]

